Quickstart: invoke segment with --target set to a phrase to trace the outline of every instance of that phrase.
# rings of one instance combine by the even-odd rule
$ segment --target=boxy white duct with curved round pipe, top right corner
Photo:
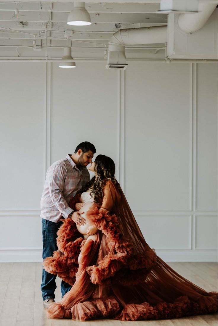
[[[214,3],[200,3],[198,13],[168,15],[168,58],[217,59],[217,8],[215,7]]]

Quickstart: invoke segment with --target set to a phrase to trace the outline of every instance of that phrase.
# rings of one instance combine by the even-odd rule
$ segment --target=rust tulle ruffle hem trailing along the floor
[[[116,298],[95,299],[80,302],[65,310],[61,304],[52,304],[48,309],[48,318],[69,318],[85,321],[90,319],[119,319],[122,321],[172,319],[185,316],[203,315],[217,311],[216,292],[201,297],[197,302],[187,296],[181,296],[173,303],[160,302],[151,306],[148,302],[142,304],[127,304],[121,311],[121,304]]]

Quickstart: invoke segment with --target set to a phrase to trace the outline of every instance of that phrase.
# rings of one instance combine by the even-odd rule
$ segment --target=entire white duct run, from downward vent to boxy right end
[[[200,3],[199,4],[199,12],[197,13],[185,13],[185,14],[170,14],[168,18],[168,26],[154,26],[154,27],[141,27],[141,28],[132,28],[132,29],[120,29],[115,34],[112,35],[109,43],[108,43],[108,59],[107,59],[107,65],[106,68],[115,68],[115,65],[118,65],[117,69],[120,69],[119,66],[127,66],[126,64],[126,56],[125,56],[125,46],[127,45],[139,45],[139,44],[155,44],[155,43],[166,43],[167,42],[167,49],[169,47],[169,41],[176,33],[175,30],[175,22],[174,20],[177,20],[177,24],[180,29],[180,34],[184,34],[183,38],[181,36],[181,39],[179,38],[178,42],[180,44],[179,51],[183,51],[183,48],[186,48],[186,44],[188,43],[186,40],[186,37],[189,37],[189,34],[192,34],[193,32],[198,31],[201,29],[208,19],[210,18],[210,15],[214,11],[215,7],[217,6],[216,3]],[[172,23],[171,23],[172,21]],[[215,24],[215,21],[214,21]],[[171,27],[170,27],[171,25]],[[173,26],[172,26],[173,25]],[[172,31],[173,29],[173,31]],[[213,30],[208,31],[208,35],[210,37],[211,32],[215,35]],[[172,35],[173,34],[173,35]],[[188,35],[188,36],[186,36]],[[171,38],[170,38],[171,37]],[[203,39],[202,46],[204,46],[204,35],[202,35]],[[185,43],[181,43],[182,40],[185,41]],[[216,44],[216,42],[212,39],[212,42]],[[171,42],[172,43],[172,42]],[[194,48],[193,54],[187,54],[183,55],[183,53],[175,54],[175,46],[174,46],[174,39],[173,44],[170,45],[172,55],[169,56],[171,58],[179,59],[198,59],[201,58],[199,55],[196,54],[196,51],[199,50],[199,39],[196,39],[192,37],[191,45]],[[181,45],[182,44],[182,45]],[[197,50],[196,50],[197,49]],[[212,55],[209,54],[203,54],[204,57],[202,59],[214,59],[214,53],[216,52],[214,49],[211,48]],[[169,54],[169,51],[168,51]],[[124,69],[122,67],[122,69]]]

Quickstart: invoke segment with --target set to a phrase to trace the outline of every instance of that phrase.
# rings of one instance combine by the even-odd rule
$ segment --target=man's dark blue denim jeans
[[[57,230],[60,228],[62,221],[57,223],[45,220],[42,218],[42,258],[45,259],[46,257],[50,257],[53,255],[53,252],[57,250]],[[48,298],[55,297],[54,291],[56,289],[56,279],[57,275],[47,273],[44,269],[42,269],[42,284],[41,284],[41,291],[42,291],[42,299],[43,301]],[[65,293],[70,291],[71,285],[61,281],[61,294],[62,297]]]

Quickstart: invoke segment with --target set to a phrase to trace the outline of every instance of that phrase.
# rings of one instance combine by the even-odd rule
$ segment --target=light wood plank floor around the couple
[[[216,263],[168,263],[179,274],[209,291],[217,291]],[[55,301],[61,299],[57,278]],[[76,322],[47,319],[40,291],[41,263],[0,263],[0,326],[215,326],[217,314],[180,319]]]

